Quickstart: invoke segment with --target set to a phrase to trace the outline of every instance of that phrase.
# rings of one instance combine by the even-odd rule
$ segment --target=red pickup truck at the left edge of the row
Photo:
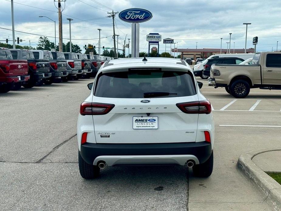
[[[27,60],[13,59],[8,48],[0,47],[0,92],[17,90],[29,78]]]

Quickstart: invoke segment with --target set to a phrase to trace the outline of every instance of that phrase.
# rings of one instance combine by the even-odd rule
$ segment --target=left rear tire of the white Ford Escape
[[[84,179],[94,179],[100,175],[100,168],[95,165],[87,164],[78,151],[78,165],[81,177]]]

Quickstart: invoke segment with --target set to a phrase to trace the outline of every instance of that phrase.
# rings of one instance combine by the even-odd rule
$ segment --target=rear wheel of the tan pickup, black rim
[[[230,86],[230,93],[235,98],[245,98],[250,93],[250,85],[242,79],[234,81]]]

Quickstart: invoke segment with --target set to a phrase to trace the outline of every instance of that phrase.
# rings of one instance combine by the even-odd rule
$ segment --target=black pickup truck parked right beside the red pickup
[[[35,85],[40,86],[43,84],[43,79],[50,78],[50,64],[47,59],[35,59],[33,52],[23,49],[10,49],[13,59],[26,59],[28,64],[28,74],[30,75],[29,81],[22,86],[31,88]]]

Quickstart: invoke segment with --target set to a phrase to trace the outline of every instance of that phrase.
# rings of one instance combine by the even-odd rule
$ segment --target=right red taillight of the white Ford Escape
[[[177,103],[176,106],[184,113],[192,114],[209,114],[211,113],[211,103],[208,100],[194,101],[194,102],[182,102]]]

